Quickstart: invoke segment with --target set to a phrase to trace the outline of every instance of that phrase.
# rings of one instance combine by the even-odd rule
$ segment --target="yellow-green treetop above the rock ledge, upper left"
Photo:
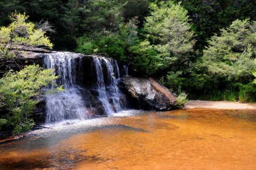
[[[12,13],[12,23],[0,29],[0,68],[15,63],[15,58],[22,47],[47,46],[53,47],[45,36],[49,26],[37,28],[32,22],[26,22],[26,14]]]

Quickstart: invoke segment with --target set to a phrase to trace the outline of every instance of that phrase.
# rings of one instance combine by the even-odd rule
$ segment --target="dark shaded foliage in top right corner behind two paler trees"
[[[183,0],[181,5],[188,10],[190,22],[193,23],[193,30],[197,35],[196,49],[202,52],[211,36],[219,34],[221,28],[228,27],[236,19],[255,20],[254,4],[254,1],[247,0]]]

